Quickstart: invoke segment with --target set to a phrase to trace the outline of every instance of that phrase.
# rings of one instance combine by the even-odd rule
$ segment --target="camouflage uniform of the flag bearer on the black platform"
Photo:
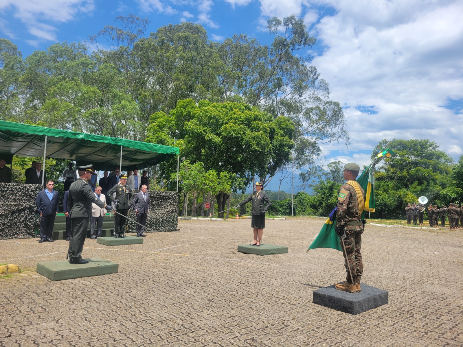
[[[362,187],[360,191],[365,197],[365,192]],[[361,216],[359,211],[357,193],[353,186],[349,184],[343,184],[338,193],[338,211],[336,211],[336,227],[345,228],[346,237],[344,239],[345,250],[344,255],[344,266],[346,268],[346,279],[350,283],[350,271],[352,272],[352,278],[355,283],[360,283],[360,279],[363,274],[363,261],[360,248],[362,248],[362,233],[363,224],[361,222]],[[339,240],[341,248],[343,247],[343,239]],[[347,259],[346,259],[347,254]],[[349,265],[347,264],[349,261]]]

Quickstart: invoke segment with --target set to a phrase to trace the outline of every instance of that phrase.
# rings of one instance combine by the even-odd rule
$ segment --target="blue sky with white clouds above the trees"
[[[146,35],[188,20],[211,40],[246,33],[261,43],[273,40],[267,19],[304,19],[317,38],[305,54],[328,81],[331,99],[344,106],[351,138],[348,147],[324,145],[321,165],[368,164],[383,138],[428,138],[456,160],[463,154],[462,1],[1,0],[0,37],[25,57],[53,43],[85,42],[129,13],[148,17]],[[282,189],[290,186],[286,180]]]

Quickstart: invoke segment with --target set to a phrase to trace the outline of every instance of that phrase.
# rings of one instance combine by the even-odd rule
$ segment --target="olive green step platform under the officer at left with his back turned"
[[[88,264],[69,264],[68,260],[44,261],[37,264],[37,273],[52,281],[118,273],[119,264],[100,258],[87,258]]]

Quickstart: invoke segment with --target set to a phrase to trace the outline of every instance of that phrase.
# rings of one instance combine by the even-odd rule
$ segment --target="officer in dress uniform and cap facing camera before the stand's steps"
[[[127,223],[127,214],[129,212],[130,208],[130,199],[132,197],[131,189],[130,186],[127,186],[127,175],[123,174],[119,177],[119,183],[113,188],[111,188],[106,197],[109,199],[109,202],[116,202],[116,212],[119,212],[119,214],[116,213],[115,216],[115,223],[114,223],[114,237],[118,239],[119,237],[125,238],[124,235],[124,228],[125,228],[125,223]],[[116,193],[116,197],[113,198],[113,193]]]

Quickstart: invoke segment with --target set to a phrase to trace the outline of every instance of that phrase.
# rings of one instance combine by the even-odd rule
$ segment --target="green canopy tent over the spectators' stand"
[[[85,134],[76,131],[46,128],[37,125],[0,120],[0,155],[9,158],[23,157],[70,159],[77,165],[92,164],[96,170],[112,170],[132,167],[148,167],[177,155],[177,147],[125,140],[117,137]]]

